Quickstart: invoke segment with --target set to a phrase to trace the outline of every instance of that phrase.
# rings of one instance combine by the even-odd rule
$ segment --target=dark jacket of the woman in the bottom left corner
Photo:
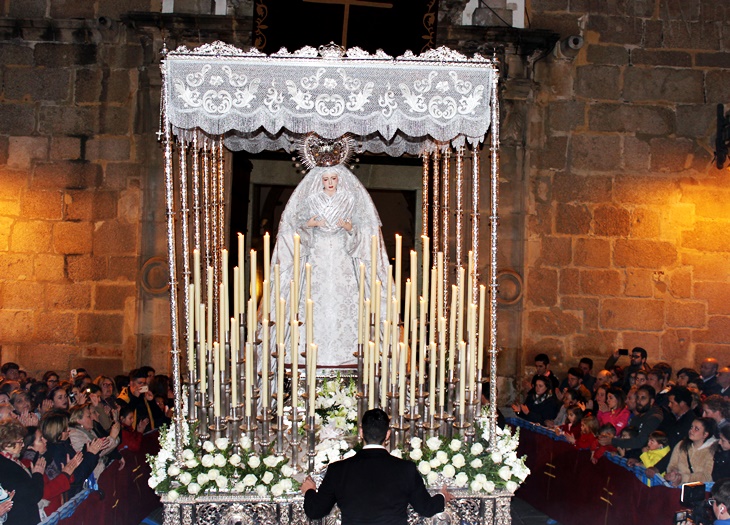
[[[43,474],[32,474],[14,461],[0,456],[0,480],[8,492],[15,491],[8,525],[36,525],[41,521],[38,502],[43,498]]]

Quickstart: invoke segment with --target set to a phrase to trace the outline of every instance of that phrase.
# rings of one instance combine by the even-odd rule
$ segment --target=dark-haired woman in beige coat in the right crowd
[[[712,480],[712,465],[715,455],[715,421],[699,417],[692,421],[686,438],[677,443],[669,459],[664,476],[675,487],[682,483]]]

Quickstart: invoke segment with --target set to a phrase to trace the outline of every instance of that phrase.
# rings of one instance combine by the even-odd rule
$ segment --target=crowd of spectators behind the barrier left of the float
[[[35,525],[106,468],[125,468],[142,434],[169,423],[171,382],[144,366],[114,379],[82,368],[29,377],[0,367],[0,523]]]

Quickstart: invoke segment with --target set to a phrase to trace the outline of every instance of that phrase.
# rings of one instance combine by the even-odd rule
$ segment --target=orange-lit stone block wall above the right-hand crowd
[[[585,45],[535,69],[523,365],[547,352],[558,369],[581,356],[600,369],[637,345],[675,370],[727,361],[730,173],[712,163],[716,105],[730,99],[721,4],[533,2],[533,26]]]

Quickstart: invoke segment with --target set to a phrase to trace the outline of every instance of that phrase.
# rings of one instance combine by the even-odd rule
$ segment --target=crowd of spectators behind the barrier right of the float
[[[560,382],[545,354],[535,357],[537,373],[515,414],[555,429],[578,448],[590,449],[595,463],[604,453],[641,465],[674,486],[730,477],[730,365],[707,358],[699,371],[669,363],[647,364],[647,352],[611,355],[593,376],[583,358]]]

